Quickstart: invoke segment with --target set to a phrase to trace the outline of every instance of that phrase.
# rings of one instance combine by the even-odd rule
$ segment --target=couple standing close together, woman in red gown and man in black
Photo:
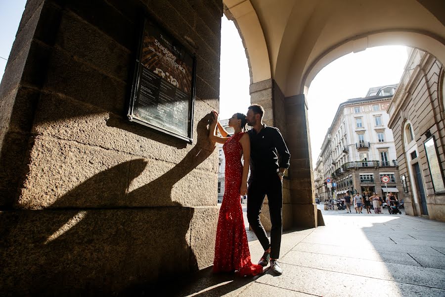
[[[282,269],[277,259],[280,254],[282,233],[282,182],[284,171],[289,168],[290,154],[280,131],[263,124],[264,108],[249,106],[247,116],[235,113],[228,122],[234,134],[229,135],[212,112],[211,141],[223,144],[225,154],[225,191],[218,218],[215,244],[214,272],[234,272],[252,276],[263,272],[270,262],[273,273]],[[246,132],[246,123],[252,127]],[[222,137],[218,136],[217,129]],[[278,158],[278,155],[279,158]],[[244,164],[241,158],[244,158]],[[250,165],[250,178],[247,175]],[[251,262],[247,235],[244,227],[240,197],[247,194],[247,219],[265,252],[258,264]],[[269,204],[270,242],[261,224],[260,213],[265,196]]]

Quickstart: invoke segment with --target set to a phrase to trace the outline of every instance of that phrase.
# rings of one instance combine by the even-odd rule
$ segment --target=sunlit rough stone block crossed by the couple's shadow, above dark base
[[[47,137],[36,138],[30,159],[20,208],[216,204],[216,173],[185,164]]]

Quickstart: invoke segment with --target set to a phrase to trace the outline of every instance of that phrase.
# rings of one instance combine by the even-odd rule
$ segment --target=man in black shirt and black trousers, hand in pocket
[[[247,111],[247,124],[253,129],[250,137],[250,178],[247,190],[247,219],[265,253],[258,264],[270,267],[275,274],[283,271],[278,265],[280,255],[283,209],[283,176],[289,168],[290,153],[280,131],[263,124],[264,108],[254,104]],[[277,155],[278,153],[278,155]],[[279,158],[278,158],[279,156]],[[260,221],[261,207],[267,195],[269,204],[270,243]]]

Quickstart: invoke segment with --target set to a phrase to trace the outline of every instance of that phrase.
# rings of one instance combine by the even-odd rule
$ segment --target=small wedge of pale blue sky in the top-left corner
[[[0,0],[0,78],[17,33],[26,0]]]

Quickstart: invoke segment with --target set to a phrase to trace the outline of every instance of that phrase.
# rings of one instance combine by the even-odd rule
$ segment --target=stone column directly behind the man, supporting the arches
[[[290,168],[283,179],[283,229],[316,227],[317,209],[310,156],[308,107],[304,95],[284,98],[274,80],[250,86],[252,104],[265,109],[263,122],[277,127],[291,153]],[[270,230],[267,198],[261,214],[262,223]]]

